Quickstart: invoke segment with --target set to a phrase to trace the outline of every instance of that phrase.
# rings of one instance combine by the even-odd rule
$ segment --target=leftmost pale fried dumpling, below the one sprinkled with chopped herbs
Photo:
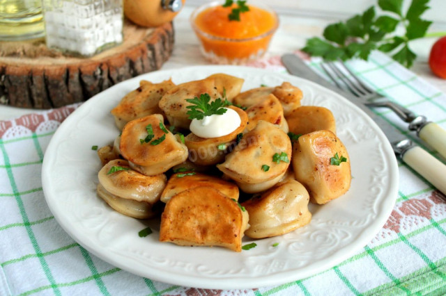
[[[98,179],[98,195],[114,210],[138,219],[157,214],[153,206],[160,200],[167,182],[164,174],[146,176],[132,170],[128,161],[122,159],[102,167]]]

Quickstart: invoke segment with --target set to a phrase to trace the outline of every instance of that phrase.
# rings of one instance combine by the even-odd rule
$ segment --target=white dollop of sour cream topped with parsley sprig
[[[201,138],[218,138],[235,131],[242,120],[236,110],[225,108],[222,115],[205,116],[202,120],[194,119],[189,129]]]

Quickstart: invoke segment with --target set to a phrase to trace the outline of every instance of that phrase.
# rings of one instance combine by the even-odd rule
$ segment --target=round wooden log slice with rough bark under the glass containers
[[[110,86],[160,69],[174,47],[171,23],[124,24],[124,41],[91,58],[63,55],[45,40],[0,42],[0,104],[58,108],[86,101]]]

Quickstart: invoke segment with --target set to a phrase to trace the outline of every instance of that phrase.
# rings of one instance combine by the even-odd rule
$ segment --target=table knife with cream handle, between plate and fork
[[[295,54],[285,54],[282,56],[282,63],[290,74],[322,85],[324,88],[328,88],[329,90],[340,94],[342,97],[345,97],[363,110],[372,120],[374,120],[374,122],[376,122],[376,124],[378,124],[389,140],[390,145],[392,145],[395,154],[397,154],[404,163],[412,167],[413,170],[446,195],[446,165],[438,161],[437,158],[431,156],[426,150],[408,140],[408,138],[402,135],[394,128],[394,126],[372,112],[353,94],[344,92],[344,90],[337,88],[316,74],[316,72],[308,67],[307,64]]]

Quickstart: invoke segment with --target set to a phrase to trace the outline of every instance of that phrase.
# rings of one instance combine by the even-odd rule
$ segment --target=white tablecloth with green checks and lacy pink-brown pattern
[[[309,65],[321,73],[319,60]],[[446,129],[446,94],[387,56],[348,63],[392,101]],[[253,67],[285,72],[279,57]],[[45,149],[68,106],[0,122],[0,295],[444,295],[446,197],[399,163],[399,199],[392,215],[359,252],[333,268],[281,286],[204,290],[138,277],[93,256],[49,211],[40,172]],[[380,116],[428,149],[391,111]]]

